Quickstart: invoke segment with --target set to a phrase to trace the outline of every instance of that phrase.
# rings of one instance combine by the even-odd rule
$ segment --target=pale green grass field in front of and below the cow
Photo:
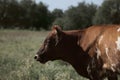
[[[47,33],[0,30],[0,80],[87,80],[62,61],[34,60]]]

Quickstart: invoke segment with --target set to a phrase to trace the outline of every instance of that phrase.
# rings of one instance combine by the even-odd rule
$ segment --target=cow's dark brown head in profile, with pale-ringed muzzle
[[[46,63],[49,60],[58,59],[61,55],[58,53],[57,49],[58,49],[58,45],[60,43],[62,34],[63,32],[61,28],[55,25],[52,31],[44,40],[43,45],[41,46],[41,48],[39,49],[39,51],[37,52],[34,58],[37,61],[40,61],[41,63]]]

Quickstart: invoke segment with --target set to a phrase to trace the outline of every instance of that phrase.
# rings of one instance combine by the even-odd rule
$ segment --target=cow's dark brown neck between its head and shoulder
[[[69,36],[67,36],[67,38],[70,37],[70,39],[69,40],[65,39],[69,41],[70,44],[72,44],[70,45],[72,46],[72,48],[70,46],[66,46],[68,47],[68,49],[69,48],[70,49],[68,52],[65,52],[64,54],[66,53],[69,53],[69,54],[66,57],[64,57],[63,60],[69,62],[80,75],[84,77],[88,77],[87,67],[88,67],[90,57],[82,49],[80,50],[80,47],[77,45],[78,33],[79,31],[74,32],[74,34],[71,32],[71,34],[69,33]],[[63,41],[63,42],[66,42],[66,41]]]

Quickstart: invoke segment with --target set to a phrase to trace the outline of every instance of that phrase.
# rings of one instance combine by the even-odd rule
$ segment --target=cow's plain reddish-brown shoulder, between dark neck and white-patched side
[[[87,29],[84,29],[84,33],[81,35],[79,40],[79,45],[86,51],[102,34],[103,27],[100,26],[91,26]]]

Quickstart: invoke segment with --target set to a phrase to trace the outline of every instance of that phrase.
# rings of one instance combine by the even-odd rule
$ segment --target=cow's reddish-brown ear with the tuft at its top
[[[53,30],[53,34],[55,35],[55,41],[56,41],[56,44],[55,46],[59,43],[59,41],[62,39],[62,29],[60,26],[58,25],[54,25],[52,27],[52,30]]]

